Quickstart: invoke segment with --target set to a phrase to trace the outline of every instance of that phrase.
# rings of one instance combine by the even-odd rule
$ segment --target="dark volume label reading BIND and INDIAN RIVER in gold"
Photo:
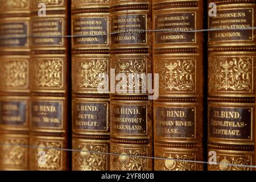
[[[157,137],[195,138],[195,108],[155,107]]]

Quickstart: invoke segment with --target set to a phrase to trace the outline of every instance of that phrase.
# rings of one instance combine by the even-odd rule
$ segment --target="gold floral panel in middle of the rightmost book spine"
[[[209,90],[251,92],[252,57],[212,57],[209,59]]]

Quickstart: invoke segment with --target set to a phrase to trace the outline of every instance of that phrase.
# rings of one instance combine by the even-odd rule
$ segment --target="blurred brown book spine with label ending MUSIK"
[[[69,1],[31,1],[30,169],[66,170],[69,111]]]

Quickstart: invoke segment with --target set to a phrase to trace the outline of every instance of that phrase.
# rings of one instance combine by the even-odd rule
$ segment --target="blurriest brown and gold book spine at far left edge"
[[[0,169],[27,170],[29,0],[0,4]]]

